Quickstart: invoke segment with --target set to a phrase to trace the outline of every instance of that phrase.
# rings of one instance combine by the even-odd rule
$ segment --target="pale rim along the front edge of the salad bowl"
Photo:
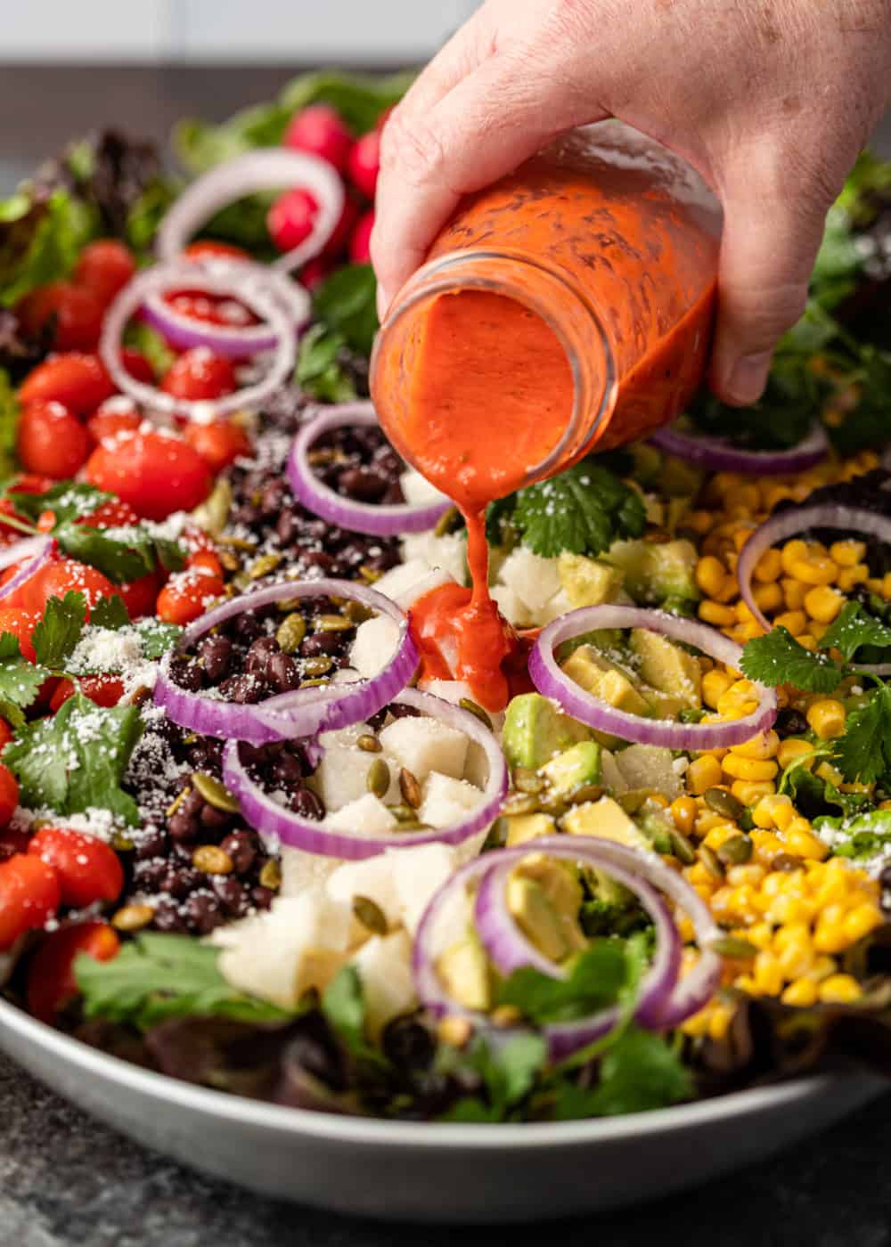
[[[86,1076],[110,1081],[137,1095],[166,1100],[182,1110],[232,1125],[280,1135],[303,1135],[336,1143],[411,1146],[426,1151],[443,1147],[522,1150],[628,1141],[650,1132],[683,1131],[711,1125],[725,1117],[752,1116],[762,1112],[767,1105],[777,1111],[792,1109],[804,1100],[829,1092],[845,1076],[837,1072],[811,1074],[787,1082],[730,1091],[708,1100],[616,1117],[554,1122],[387,1121],[267,1104],[182,1082],[167,1074],[146,1070],[122,1057],[102,1052],[71,1035],[64,1035],[12,1003],[0,999],[0,1034],[2,1031],[11,1031],[60,1064],[77,1067]],[[40,1075],[36,1076],[40,1079]]]

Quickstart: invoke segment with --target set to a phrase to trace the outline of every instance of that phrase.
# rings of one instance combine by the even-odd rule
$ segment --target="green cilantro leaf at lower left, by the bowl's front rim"
[[[87,1018],[148,1030],[168,1018],[220,1016],[246,1023],[293,1015],[233,988],[217,966],[220,949],[186,935],[137,935],[111,961],[82,954],[75,978]]]

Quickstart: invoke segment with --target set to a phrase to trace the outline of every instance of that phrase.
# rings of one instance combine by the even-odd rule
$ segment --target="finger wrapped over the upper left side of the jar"
[[[578,107],[578,104],[575,104]],[[397,110],[383,132],[371,253],[383,314],[463,195],[512,172],[583,121],[569,92],[495,52],[426,116]]]

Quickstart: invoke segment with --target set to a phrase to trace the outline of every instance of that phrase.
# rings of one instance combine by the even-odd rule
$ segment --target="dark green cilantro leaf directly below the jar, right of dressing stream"
[[[512,522],[534,554],[553,559],[569,550],[594,557],[620,537],[639,537],[646,511],[630,485],[584,459],[559,476],[522,489]]]

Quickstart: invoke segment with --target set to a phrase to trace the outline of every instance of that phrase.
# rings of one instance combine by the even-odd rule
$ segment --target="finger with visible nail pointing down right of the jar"
[[[801,317],[831,197],[801,187],[784,196],[725,197],[711,388],[725,403],[761,397],[780,337]]]

